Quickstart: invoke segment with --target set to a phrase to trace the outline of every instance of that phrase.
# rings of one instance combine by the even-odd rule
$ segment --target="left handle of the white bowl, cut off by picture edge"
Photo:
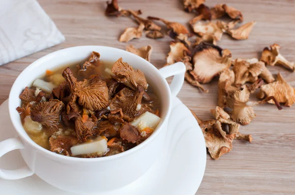
[[[24,145],[19,138],[10,138],[0,142],[0,157],[15,149],[24,149]],[[0,178],[2,179],[21,179],[32,174],[34,173],[28,166],[17,170],[0,169]]]

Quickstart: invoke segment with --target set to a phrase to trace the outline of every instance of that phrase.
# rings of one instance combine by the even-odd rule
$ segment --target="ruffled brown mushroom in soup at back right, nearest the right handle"
[[[115,62],[112,68],[112,73],[116,75],[114,76],[114,79],[133,90],[136,90],[138,85],[143,86],[144,90],[147,90],[148,88],[144,73],[141,70],[133,70],[127,62],[123,62],[122,58],[119,58]]]

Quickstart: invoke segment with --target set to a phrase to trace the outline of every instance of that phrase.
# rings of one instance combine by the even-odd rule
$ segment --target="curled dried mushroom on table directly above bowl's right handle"
[[[167,65],[174,64],[177,61],[181,61],[185,54],[189,52],[189,49],[182,42],[170,42],[170,52],[167,56]]]

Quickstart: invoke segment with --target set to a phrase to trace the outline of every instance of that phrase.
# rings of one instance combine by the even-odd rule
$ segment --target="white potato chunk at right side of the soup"
[[[158,117],[157,115],[152,114],[150,112],[145,112],[140,117],[132,121],[131,124],[133,126],[140,128],[140,130],[143,128],[143,124],[145,124],[145,126],[147,127],[151,127],[155,129],[157,125],[159,124],[160,120],[161,118]]]

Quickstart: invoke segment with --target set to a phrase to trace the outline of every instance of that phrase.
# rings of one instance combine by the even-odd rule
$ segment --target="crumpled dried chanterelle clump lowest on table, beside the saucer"
[[[218,106],[211,110],[215,119],[209,121],[202,121],[193,111],[191,112],[202,129],[208,152],[215,160],[232,150],[235,138],[252,142],[252,136],[239,133],[239,124],[231,121],[230,116]]]

